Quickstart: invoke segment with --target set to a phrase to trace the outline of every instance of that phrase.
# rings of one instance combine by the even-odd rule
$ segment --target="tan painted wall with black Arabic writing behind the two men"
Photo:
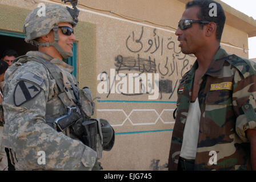
[[[0,0],[0,29],[21,32],[27,9],[33,9],[39,2],[50,1]],[[185,4],[177,0],[79,2],[171,27],[177,27],[185,9]],[[103,168],[165,170],[171,129],[174,126],[173,110],[177,100],[178,80],[189,71],[195,57],[181,53],[173,28],[138,23],[109,12],[79,7],[81,13],[78,26],[75,27],[78,39],[78,80],[81,87],[89,86],[94,96],[101,97],[101,102],[97,102],[96,115],[98,118],[106,118],[117,133],[113,149],[103,152]],[[18,18],[14,16],[15,12],[19,13]],[[222,47],[227,52],[248,57],[248,53],[243,52],[242,48],[228,44],[239,47],[244,44],[248,47],[247,36],[246,32],[227,24],[223,32],[222,41],[225,43],[222,43]],[[116,92],[99,93],[97,86],[106,84],[101,78],[106,80],[103,76],[110,76],[111,69],[115,69],[114,76],[117,72],[145,73],[147,79],[151,72],[158,73],[162,95],[159,93],[157,100],[149,100],[149,96],[153,94],[126,96]],[[102,77],[98,77],[101,73]],[[111,78],[114,76],[110,77],[109,88],[113,85]],[[121,82],[116,80],[115,86],[118,83]],[[147,82],[145,86],[149,84],[151,83]],[[155,84],[152,85],[154,89]],[[127,90],[130,86],[131,82],[127,81]]]

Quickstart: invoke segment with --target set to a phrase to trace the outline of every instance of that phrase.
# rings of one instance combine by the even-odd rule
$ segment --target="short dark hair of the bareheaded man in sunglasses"
[[[215,5],[217,5],[217,16],[210,16],[209,12],[213,8],[209,7],[210,3],[215,3]],[[223,28],[226,22],[226,15],[222,6],[218,2],[213,0],[194,0],[187,2],[186,9],[194,6],[200,7],[200,10],[197,14],[197,18],[199,20],[206,20],[217,24],[216,38],[217,40],[221,41]],[[203,26],[205,26],[205,24],[201,24],[202,28]]]

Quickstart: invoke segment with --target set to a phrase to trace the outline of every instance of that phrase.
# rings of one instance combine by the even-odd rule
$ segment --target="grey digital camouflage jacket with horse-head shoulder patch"
[[[70,74],[73,67],[43,52],[30,51],[26,55],[5,73],[2,146],[13,151],[16,170],[91,170],[97,152],[71,133],[68,137],[47,125],[49,118],[65,114],[65,107],[56,80],[31,56],[57,65],[73,88],[79,89]],[[41,156],[45,156],[44,163]]]

